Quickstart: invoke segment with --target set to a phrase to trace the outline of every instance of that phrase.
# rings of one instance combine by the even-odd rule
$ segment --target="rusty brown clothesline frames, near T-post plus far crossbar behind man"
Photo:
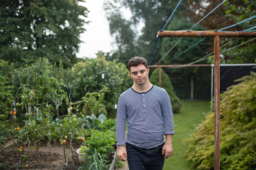
[[[157,37],[214,37],[214,170],[220,170],[220,37],[256,37],[256,32],[160,31]],[[170,66],[177,65],[149,65],[148,67],[159,67],[159,76],[161,77],[161,67]],[[211,65],[187,65],[186,67],[191,66]]]

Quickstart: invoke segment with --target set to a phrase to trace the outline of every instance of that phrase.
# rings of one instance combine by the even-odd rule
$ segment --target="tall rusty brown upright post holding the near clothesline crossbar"
[[[220,169],[220,37],[214,37],[214,170]]]

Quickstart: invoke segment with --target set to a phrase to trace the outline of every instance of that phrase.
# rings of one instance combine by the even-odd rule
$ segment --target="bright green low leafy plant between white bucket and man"
[[[111,130],[96,130],[91,134],[85,143],[90,150],[97,149],[102,156],[106,156],[108,158],[108,153],[114,152],[112,145],[116,144],[116,133]]]

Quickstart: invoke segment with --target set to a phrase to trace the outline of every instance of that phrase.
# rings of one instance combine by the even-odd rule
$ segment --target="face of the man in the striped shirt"
[[[136,84],[142,85],[147,81],[149,68],[145,65],[131,66],[130,70],[130,75]]]

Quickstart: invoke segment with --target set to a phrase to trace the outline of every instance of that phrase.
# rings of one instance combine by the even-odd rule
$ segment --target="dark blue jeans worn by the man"
[[[126,143],[129,170],[163,170],[163,145],[145,149]]]

